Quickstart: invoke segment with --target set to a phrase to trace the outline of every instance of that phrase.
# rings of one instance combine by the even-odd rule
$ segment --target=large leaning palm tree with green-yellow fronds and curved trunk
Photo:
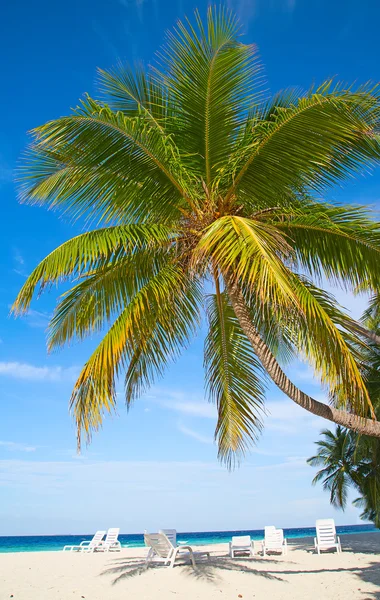
[[[261,428],[266,376],[306,410],[380,436],[357,324],[316,285],[380,287],[379,223],[320,199],[378,162],[378,88],[329,80],[264,99],[255,46],[241,43],[228,10],[211,8],[204,23],[196,13],[177,24],[156,67],[119,65],[100,83],[100,101],[86,96],[33,131],[20,175],[22,201],[97,227],[49,254],[14,305],[22,313],[36,287],[70,280],[49,348],[106,330],[72,393],[78,442],[115,407],[118,376],[130,406],[204,308],[206,386],[227,463]],[[294,355],[319,373],[330,405],[286,376]]]

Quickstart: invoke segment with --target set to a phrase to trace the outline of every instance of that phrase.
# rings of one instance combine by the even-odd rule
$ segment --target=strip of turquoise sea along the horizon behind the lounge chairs
[[[340,535],[347,533],[369,533],[379,531],[373,525],[341,525],[337,526]],[[285,537],[297,539],[314,536],[314,527],[299,527],[284,529]],[[25,536],[3,536],[0,537],[0,552],[42,552],[46,550],[62,550],[63,546],[69,544],[80,544],[83,540],[92,538],[92,533],[83,535],[25,535]],[[179,542],[186,542],[194,546],[206,544],[220,544],[229,542],[233,535],[250,535],[254,540],[263,538],[262,529],[247,529],[244,531],[197,531],[178,533]],[[122,546],[133,548],[144,545],[142,534],[121,534],[119,536]]]

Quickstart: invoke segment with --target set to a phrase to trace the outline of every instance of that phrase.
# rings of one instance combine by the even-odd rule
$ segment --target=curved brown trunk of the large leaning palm
[[[363,435],[380,437],[380,421],[366,419],[344,410],[328,406],[323,402],[315,400],[308,394],[305,394],[290,381],[253,325],[249,309],[245,303],[241,290],[234,282],[229,281],[228,278],[225,279],[228,296],[241,328],[251,342],[258,359],[261,361],[263,367],[277,387],[279,387],[280,390],[296,404],[313,413],[313,415],[323,417],[324,419],[333,421],[333,423],[336,423],[337,425],[342,425],[343,427],[347,427],[348,429],[352,429]]]

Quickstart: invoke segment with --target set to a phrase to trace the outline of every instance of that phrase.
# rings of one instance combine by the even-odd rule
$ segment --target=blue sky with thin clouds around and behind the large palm
[[[230,0],[245,40],[256,42],[270,91],[307,88],[329,76],[380,80],[376,0]],[[70,390],[96,340],[47,355],[45,329],[58,291],[14,320],[9,307],[31,269],[80,231],[57,214],[17,203],[13,172],[32,127],[67,114],[95,93],[96,67],[120,58],[151,61],[164,32],[199,0],[67,0],[7,3],[0,24],[0,535],[85,532],[120,526],[212,530],[312,525],[335,512],[311,487],[305,458],[327,425],[275,388],[257,448],[233,473],[216,459],[215,410],[204,398],[202,339],[127,415],[108,418],[81,457],[68,414]],[[370,18],[369,18],[370,17]],[[359,177],[330,198],[376,206],[380,172]],[[359,316],[362,299],[340,301]],[[306,366],[292,378],[323,393]],[[238,507],[238,508],[237,508]]]

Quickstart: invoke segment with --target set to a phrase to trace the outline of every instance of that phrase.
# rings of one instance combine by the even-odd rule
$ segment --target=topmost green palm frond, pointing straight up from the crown
[[[240,43],[238,36],[231,11],[209,7],[205,26],[197,11],[195,25],[178,22],[161,53],[178,144],[209,188],[259,92],[256,48]]]

